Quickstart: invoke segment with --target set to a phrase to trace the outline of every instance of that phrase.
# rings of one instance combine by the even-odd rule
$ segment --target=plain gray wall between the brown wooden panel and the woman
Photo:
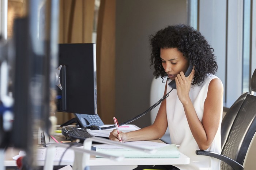
[[[186,0],[116,1],[116,117],[124,122],[150,107],[149,35],[167,25],[186,23]],[[150,114],[135,120],[150,125]]]

